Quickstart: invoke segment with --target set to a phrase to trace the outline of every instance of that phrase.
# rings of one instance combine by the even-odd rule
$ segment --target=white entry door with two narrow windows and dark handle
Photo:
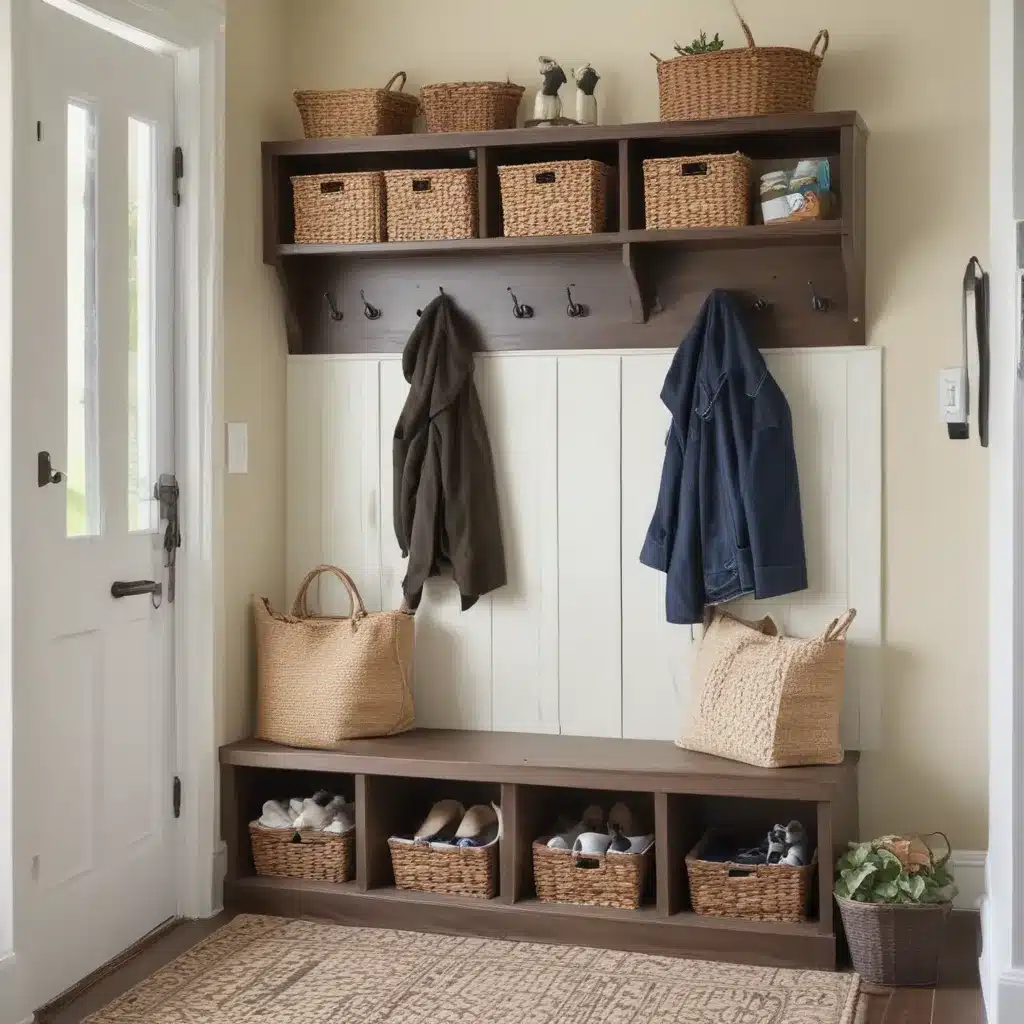
[[[13,368],[14,733],[31,771],[14,813],[34,991],[52,995],[176,908],[174,605],[154,499],[174,472],[174,65],[31,8]],[[112,595],[144,581],[162,595]]]

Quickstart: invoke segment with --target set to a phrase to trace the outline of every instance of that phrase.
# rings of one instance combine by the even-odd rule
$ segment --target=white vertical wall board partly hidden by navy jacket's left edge
[[[673,354],[623,358],[623,735],[636,739],[680,734],[701,632],[666,622],[665,573],[640,563],[671,424],[658,396]]]

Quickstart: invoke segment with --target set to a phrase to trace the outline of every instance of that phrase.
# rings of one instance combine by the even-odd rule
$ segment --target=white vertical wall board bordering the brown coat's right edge
[[[490,597],[493,727],[558,731],[558,362],[479,358],[508,585]]]

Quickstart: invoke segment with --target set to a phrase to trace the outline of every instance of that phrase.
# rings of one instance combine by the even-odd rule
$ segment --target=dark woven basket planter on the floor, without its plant
[[[836,897],[854,970],[876,985],[934,985],[951,903],[861,903]]]

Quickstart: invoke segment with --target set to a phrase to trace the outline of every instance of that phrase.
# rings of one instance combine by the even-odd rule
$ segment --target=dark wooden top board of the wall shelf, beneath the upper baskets
[[[569,125],[547,128],[507,128],[481,132],[414,132],[406,135],[367,135],[352,138],[312,138],[264,142],[271,157],[299,157],[331,153],[393,153],[395,151],[475,150],[530,146],[566,142],[615,142],[620,139],[709,138],[772,133],[820,132],[857,127],[864,123],[855,111],[807,114],[770,114],[755,118],[715,121],[648,121],[623,125]]]

